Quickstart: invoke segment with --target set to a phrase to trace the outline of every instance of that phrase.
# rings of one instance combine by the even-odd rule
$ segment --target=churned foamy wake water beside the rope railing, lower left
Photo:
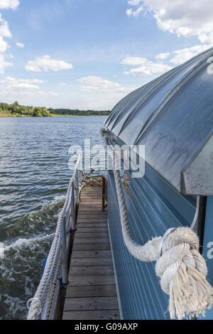
[[[65,196],[56,197],[7,231],[11,244],[5,244],[0,259],[0,319],[26,318],[26,302],[40,282],[64,202]]]

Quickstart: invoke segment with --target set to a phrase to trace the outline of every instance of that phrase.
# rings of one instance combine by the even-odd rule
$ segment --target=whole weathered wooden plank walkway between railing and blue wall
[[[102,188],[82,189],[63,320],[119,319]]]

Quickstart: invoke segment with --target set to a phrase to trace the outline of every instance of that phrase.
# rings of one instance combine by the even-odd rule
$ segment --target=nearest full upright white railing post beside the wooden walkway
[[[67,270],[67,229],[66,229],[66,217],[63,217],[61,226],[61,255],[62,255],[62,279],[61,284],[65,286],[68,281]]]

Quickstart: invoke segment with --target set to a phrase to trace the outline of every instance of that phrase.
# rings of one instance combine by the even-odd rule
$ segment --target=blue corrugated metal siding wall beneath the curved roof
[[[170,227],[190,225],[195,214],[194,197],[180,195],[148,166],[144,178],[130,181],[129,220],[136,242],[144,244]],[[124,244],[112,173],[108,183],[108,216],[124,319],[169,319],[168,296],[160,289],[155,263],[134,259]]]

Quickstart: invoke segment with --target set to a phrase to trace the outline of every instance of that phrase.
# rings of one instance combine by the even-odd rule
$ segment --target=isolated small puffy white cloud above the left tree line
[[[27,71],[33,72],[48,72],[52,71],[60,71],[60,70],[71,70],[72,64],[65,63],[63,60],[56,60],[50,58],[50,55],[43,55],[41,57],[36,58],[35,60],[28,61],[26,65]]]

